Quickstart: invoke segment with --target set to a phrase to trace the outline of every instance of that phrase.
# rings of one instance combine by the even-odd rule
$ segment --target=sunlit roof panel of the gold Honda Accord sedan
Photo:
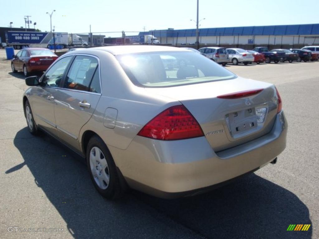
[[[167,47],[167,46],[108,46],[108,47],[94,47],[94,50],[107,51],[113,55],[121,54],[132,54],[132,53],[142,53],[142,52],[163,52],[163,51],[187,51],[188,49],[178,48],[178,47]]]

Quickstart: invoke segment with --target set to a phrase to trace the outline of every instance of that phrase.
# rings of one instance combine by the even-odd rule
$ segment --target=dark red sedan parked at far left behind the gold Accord
[[[47,48],[25,48],[11,60],[12,72],[23,71],[28,76],[32,71],[45,71],[58,58]]]

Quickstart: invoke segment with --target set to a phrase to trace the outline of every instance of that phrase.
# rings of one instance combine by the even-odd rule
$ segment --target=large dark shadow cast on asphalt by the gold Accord
[[[30,138],[25,127],[17,132],[14,145],[24,162],[12,165],[5,174],[10,177],[27,166],[74,238],[160,238],[165,233],[160,225],[172,224],[171,220],[205,238],[312,235],[311,226],[308,231],[287,231],[292,223],[311,224],[307,206],[292,192],[256,174],[194,197],[166,200],[132,190],[118,201],[108,201],[93,187],[82,159],[46,134]]]

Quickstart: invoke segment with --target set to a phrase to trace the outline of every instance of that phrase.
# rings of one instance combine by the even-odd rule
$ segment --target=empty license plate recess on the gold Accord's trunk
[[[229,113],[226,121],[231,135],[245,133],[257,127],[257,116],[254,107]]]

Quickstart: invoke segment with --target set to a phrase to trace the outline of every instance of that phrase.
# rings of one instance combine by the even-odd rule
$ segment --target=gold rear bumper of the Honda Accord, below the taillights
[[[217,153],[205,137],[159,141],[136,136],[126,150],[109,148],[131,188],[174,198],[207,191],[263,167],[285,149],[286,134],[282,111],[270,133]]]

